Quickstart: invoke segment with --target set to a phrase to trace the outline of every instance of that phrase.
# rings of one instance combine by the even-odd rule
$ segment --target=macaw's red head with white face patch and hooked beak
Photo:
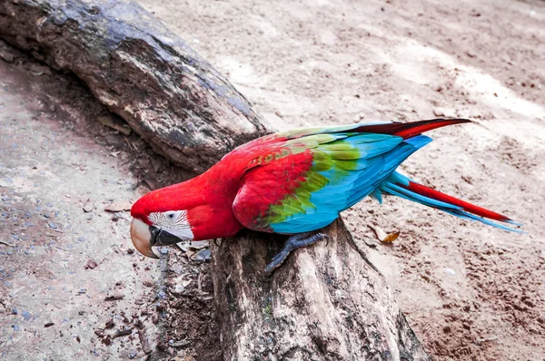
[[[137,200],[131,209],[131,239],[144,256],[158,259],[152,247],[171,246],[194,239],[191,213],[198,206],[184,197],[183,183],[154,190]]]

